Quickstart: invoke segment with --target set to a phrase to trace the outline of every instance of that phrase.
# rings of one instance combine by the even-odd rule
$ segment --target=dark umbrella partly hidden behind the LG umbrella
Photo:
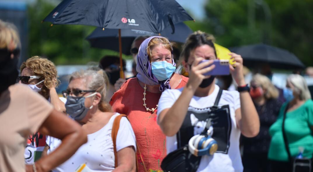
[[[192,30],[184,23],[177,23],[174,26],[174,34],[172,34],[172,28],[167,27],[160,33],[161,36],[167,37],[170,41],[184,43]],[[141,35],[158,36],[159,34],[143,30],[121,29],[122,53],[130,55],[131,43],[137,36]],[[118,51],[118,29],[105,29],[103,31],[102,28],[96,28],[86,39],[91,47]]]

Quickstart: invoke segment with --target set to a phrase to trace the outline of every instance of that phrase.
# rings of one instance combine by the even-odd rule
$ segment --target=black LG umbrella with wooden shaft
[[[186,20],[193,19],[175,0],[63,0],[43,21],[160,33],[169,25],[175,32],[174,24]],[[121,30],[119,43],[122,58]]]

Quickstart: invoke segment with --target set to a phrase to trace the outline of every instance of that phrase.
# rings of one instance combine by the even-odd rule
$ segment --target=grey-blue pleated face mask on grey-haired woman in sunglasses
[[[66,113],[69,114],[74,120],[79,121],[82,120],[91,107],[85,107],[85,99],[87,97],[95,96],[97,93],[92,93],[86,97],[73,97],[67,96],[67,101],[65,103]]]

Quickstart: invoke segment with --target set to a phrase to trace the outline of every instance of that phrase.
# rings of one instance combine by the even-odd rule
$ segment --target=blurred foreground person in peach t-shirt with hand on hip
[[[43,96],[15,84],[20,48],[16,27],[0,20],[0,171],[50,171],[86,143],[87,136],[77,122],[56,111]],[[26,140],[36,131],[62,143],[53,154],[25,166]]]

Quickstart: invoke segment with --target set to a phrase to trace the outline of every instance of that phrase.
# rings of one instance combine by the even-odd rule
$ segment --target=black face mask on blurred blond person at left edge
[[[11,54],[10,54],[11,55]],[[8,89],[9,86],[16,83],[18,77],[18,58],[14,57],[11,59],[10,55],[2,56],[0,59],[0,93]]]

